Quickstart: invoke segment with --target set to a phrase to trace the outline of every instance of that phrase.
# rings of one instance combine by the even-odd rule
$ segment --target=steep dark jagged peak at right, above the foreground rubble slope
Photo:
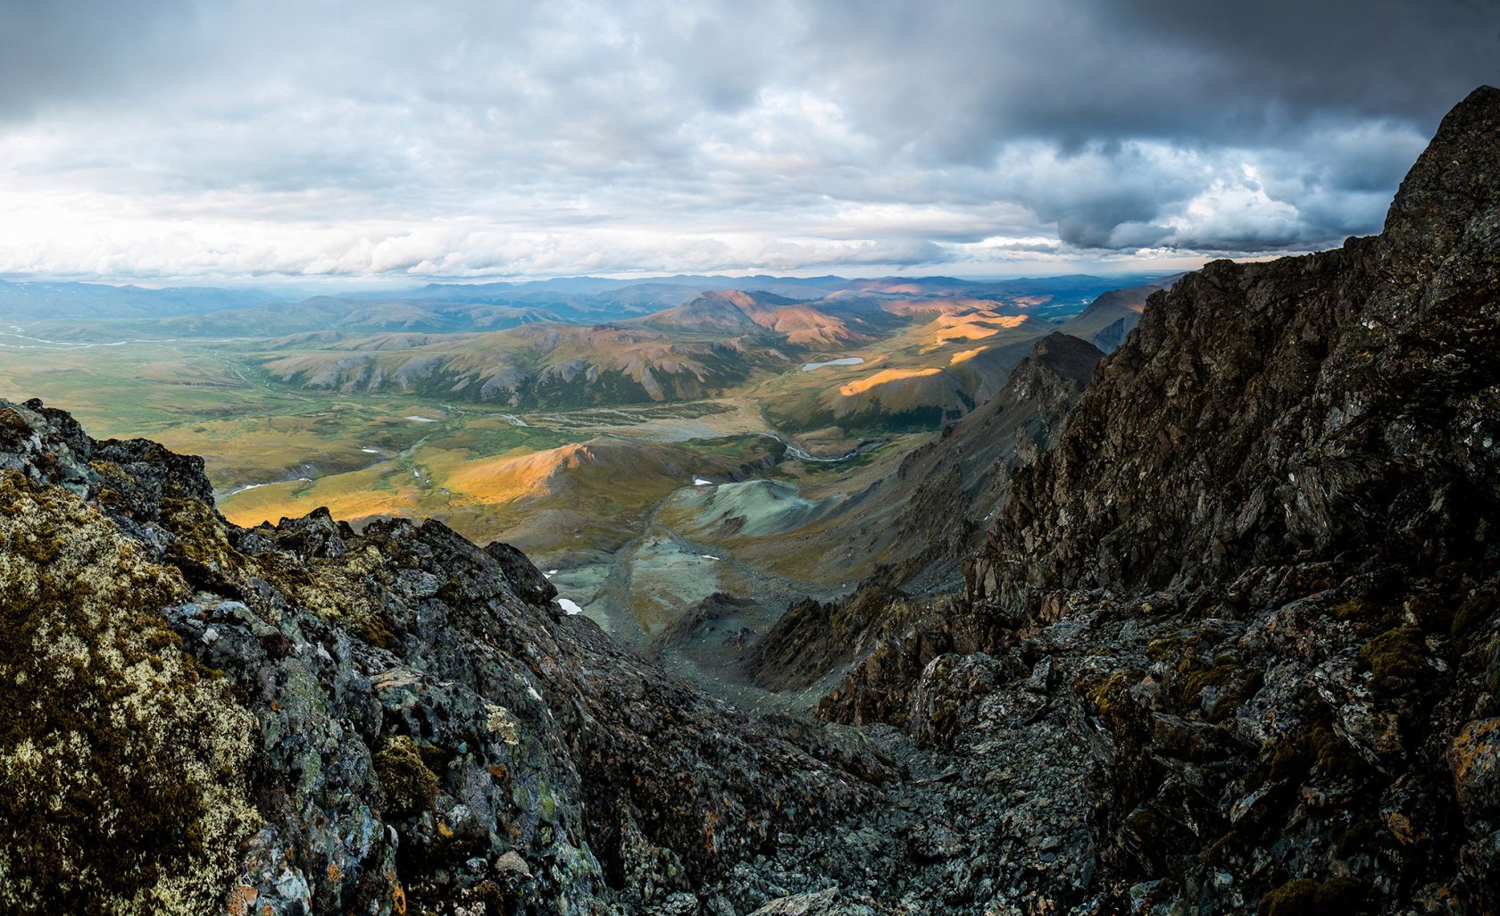
[[[1443,120],[1386,229],[1150,297],[1059,442],[1017,475],[987,576],[1036,589],[1203,582],[1378,544],[1494,558],[1500,90]]]

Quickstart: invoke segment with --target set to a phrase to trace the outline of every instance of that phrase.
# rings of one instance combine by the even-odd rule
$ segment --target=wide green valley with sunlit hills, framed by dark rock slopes
[[[226,295],[198,312],[177,295],[186,313],[159,319],[142,315],[146,291],[117,315],[94,291],[104,304],[88,321],[30,315],[0,331],[0,391],[105,436],[202,456],[237,525],[326,507],[357,528],[430,517],[512,543],[606,628],[642,642],[716,594],[748,601],[747,627],[764,630],[789,603],[844,594],[880,564],[922,573],[902,547],[912,495],[896,480],[912,450],[945,424],[1004,412],[975,411],[1047,334],[1118,343],[1155,288],[700,282],[723,288]],[[764,288],[736,288],[752,282]],[[864,549],[828,562],[830,537]],[[922,562],[933,582],[956,576]],[[674,633],[676,648],[698,645]]]

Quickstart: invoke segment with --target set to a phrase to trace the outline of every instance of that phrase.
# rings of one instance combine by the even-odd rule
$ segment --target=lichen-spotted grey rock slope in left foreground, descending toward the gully
[[[12,912],[638,909],[885,778],[560,616],[502,546],[208,498],[198,459],[0,402]]]

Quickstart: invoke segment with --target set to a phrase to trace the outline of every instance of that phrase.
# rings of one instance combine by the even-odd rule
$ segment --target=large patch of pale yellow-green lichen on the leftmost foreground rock
[[[224,897],[258,823],[255,723],[162,622],[184,595],[93,507],[0,475],[0,909]]]

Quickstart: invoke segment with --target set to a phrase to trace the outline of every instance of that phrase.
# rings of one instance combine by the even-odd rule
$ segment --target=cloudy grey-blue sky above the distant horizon
[[[1485,82],[1500,0],[0,0],[0,274],[1167,271]]]

